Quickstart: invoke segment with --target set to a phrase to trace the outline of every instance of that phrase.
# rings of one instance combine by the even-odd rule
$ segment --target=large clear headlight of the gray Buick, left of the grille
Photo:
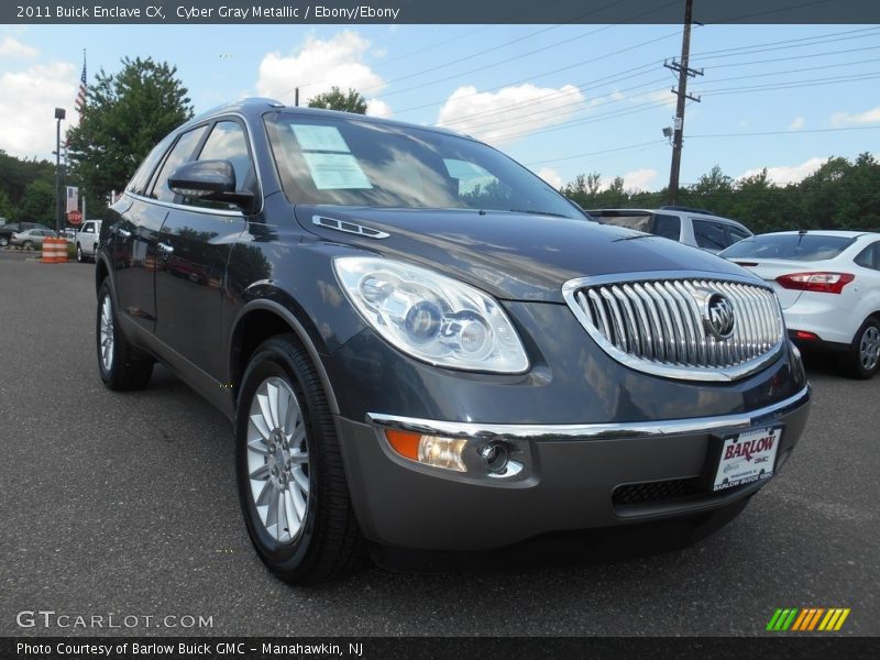
[[[504,309],[476,288],[385,258],[338,257],[333,267],[358,311],[404,353],[466,371],[520,373],[529,367]]]

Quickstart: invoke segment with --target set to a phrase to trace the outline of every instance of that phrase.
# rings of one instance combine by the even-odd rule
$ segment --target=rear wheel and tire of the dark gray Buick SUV
[[[96,324],[98,371],[101,381],[110,389],[141,389],[153,374],[153,361],[136,356],[117,323],[113,296],[105,280],[98,292]]]

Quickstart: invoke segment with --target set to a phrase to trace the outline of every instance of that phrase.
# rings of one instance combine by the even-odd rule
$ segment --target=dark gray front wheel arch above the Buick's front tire
[[[232,324],[227,354],[233,402],[238,402],[241,377],[256,348],[272,337],[287,333],[293,333],[308,353],[323,386],[330,411],[339,415],[339,404],[330,377],[306,326],[288,308],[267,299],[248,302]]]

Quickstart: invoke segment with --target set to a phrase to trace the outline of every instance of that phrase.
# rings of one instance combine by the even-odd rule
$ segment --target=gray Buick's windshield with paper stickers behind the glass
[[[542,179],[473,140],[359,118],[271,114],[265,121],[284,193],[294,204],[584,219]]]

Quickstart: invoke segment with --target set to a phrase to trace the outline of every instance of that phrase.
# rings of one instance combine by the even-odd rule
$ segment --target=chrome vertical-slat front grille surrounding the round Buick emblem
[[[609,355],[668,377],[743,377],[773,359],[785,337],[773,292],[745,278],[584,278],[566,283],[563,295]],[[729,301],[735,319],[727,339],[713,329],[710,311],[721,297]]]

